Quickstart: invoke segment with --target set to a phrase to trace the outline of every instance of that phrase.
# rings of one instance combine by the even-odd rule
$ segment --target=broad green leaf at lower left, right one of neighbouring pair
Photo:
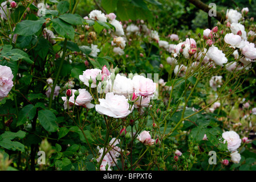
[[[57,118],[50,110],[39,110],[38,119],[46,131],[55,132],[58,130]]]

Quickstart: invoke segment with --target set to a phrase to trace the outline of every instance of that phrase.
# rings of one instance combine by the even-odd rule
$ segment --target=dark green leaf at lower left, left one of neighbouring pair
[[[26,121],[31,120],[35,117],[36,108],[34,105],[29,104],[19,111],[18,122],[16,126],[20,126],[26,123]]]

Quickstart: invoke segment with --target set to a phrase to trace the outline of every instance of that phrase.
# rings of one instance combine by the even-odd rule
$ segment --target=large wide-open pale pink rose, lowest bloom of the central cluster
[[[124,96],[115,95],[109,92],[104,98],[99,99],[100,104],[95,105],[98,113],[108,115],[113,118],[125,118],[132,113],[134,106],[129,110],[128,98]]]

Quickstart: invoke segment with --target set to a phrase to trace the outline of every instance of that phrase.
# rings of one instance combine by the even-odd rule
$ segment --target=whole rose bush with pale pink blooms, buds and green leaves
[[[1,1],[0,169],[255,170],[250,9],[193,32],[158,1],[45,2]]]

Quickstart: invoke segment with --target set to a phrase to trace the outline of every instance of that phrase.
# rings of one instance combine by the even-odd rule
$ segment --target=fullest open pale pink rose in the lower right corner
[[[226,131],[222,133],[222,138],[224,138],[224,143],[227,142],[227,150],[230,152],[236,151],[240,147],[242,140],[235,131]]]

